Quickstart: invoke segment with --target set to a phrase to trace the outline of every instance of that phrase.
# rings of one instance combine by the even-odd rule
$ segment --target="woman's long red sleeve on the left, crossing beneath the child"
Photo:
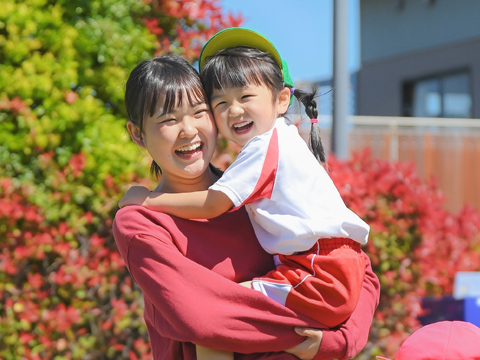
[[[242,353],[301,343],[294,326],[315,326],[263,294],[186,258],[171,234],[139,212],[117,213],[114,235],[131,276],[154,307],[161,336]]]

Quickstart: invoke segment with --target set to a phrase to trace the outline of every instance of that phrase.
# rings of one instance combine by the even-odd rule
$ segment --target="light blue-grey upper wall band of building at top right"
[[[479,37],[479,14],[477,0],[361,0],[361,62]]]

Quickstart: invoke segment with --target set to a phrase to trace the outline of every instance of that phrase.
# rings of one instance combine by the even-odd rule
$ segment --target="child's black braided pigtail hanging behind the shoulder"
[[[315,158],[322,163],[326,162],[325,150],[323,149],[322,139],[320,138],[320,126],[318,126],[318,110],[317,102],[315,101],[316,92],[307,93],[303,90],[291,88],[291,93],[293,96],[300,101],[305,107],[305,112],[310,118],[310,137],[308,141],[308,146],[310,151],[313,153]]]

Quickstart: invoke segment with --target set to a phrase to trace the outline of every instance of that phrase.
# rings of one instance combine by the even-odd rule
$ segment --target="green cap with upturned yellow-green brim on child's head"
[[[262,34],[241,27],[232,27],[219,31],[204,45],[200,53],[199,69],[202,71],[207,59],[218,51],[236,46],[248,46],[267,52],[282,69],[283,82],[293,87],[293,80],[288,72],[288,65],[280,56],[275,46]]]

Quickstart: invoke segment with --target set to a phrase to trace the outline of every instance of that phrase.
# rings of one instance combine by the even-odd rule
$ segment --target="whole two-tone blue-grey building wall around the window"
[[[480,118],[479,14],[476,0],[361,0],[356,114],[402,116],[404,82],[467,70]]]

